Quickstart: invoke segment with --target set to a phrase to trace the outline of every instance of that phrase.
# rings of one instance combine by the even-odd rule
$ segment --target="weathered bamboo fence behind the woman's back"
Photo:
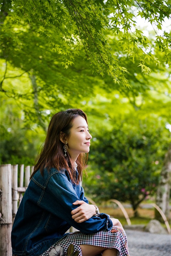
[[[19,169],[19,170],[18,170]],[[12,256],[11,230],[34,166],[0,166],[0,255]],[[19,173],[18,173],[19,172]],[[19,180],[18,180],[19,176]],[[24,183],[25,181],[25,183]]]

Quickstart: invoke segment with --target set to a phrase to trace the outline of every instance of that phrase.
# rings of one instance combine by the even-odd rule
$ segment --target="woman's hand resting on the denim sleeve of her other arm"
[[[82,223],[96,214],[96,208],[93,204],[88,204],[80,200],[76,200],[73,204],[80,204],[79,207],[71,212],[72,218],[77,223]]]

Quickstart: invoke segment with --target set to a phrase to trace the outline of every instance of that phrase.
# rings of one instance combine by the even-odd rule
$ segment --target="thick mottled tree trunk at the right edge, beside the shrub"
[[[163,168],[161,170],[160,181],[157,189],[156,204],[160,207],[167,219],[170,219],[170,177],[171,177],[171,145],[165,155]],[[155,218],[159,221],[163,221],[158,211],[155,211]]]

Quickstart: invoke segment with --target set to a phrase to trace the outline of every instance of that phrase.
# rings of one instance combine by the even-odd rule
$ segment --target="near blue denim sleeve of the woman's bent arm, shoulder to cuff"
[[[83,199],[84,193],[83,190],[81,191]],[[71,211],[76,209],[78,205],[72,203],[80,199],[67,176],[64,173],[55,173],[48,180],[42,198],[39,200],[39,205],[83,233],[111,230],[113,223],[105,213],[101,213],[98,217],[93,216],[85,222],[76,223],[72,219]]]

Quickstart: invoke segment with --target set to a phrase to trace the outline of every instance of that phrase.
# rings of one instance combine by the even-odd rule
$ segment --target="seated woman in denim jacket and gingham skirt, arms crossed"
[[[71,256],[67,252],[71,246],[72,255],[129,255],[118,219],[99,214],[80,186],[91,138],[82,110],[69,109],[52,117],[14,220],[14,256]],[[71,226],[80,232],[66,233]]]

